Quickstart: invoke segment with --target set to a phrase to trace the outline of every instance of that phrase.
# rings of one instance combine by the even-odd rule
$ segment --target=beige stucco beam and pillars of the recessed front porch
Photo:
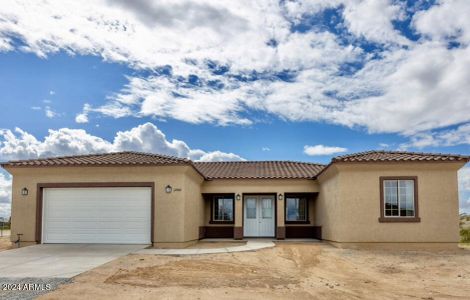
[[[313,193],[319,191],[318,183],[308,179],[224,179],[205,181],[203,193],[256,194]],[[276,200],[277,226],[284,226],[284,201]],[[243,204],[235,201],[235,226],[243,226]],[[313,208],[312,208],[313,210]]]

